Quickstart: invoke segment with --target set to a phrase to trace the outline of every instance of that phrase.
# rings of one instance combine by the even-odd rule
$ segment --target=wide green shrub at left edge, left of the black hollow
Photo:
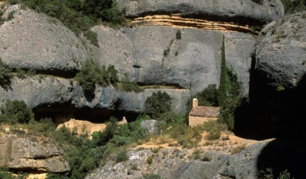
[[[0,108],[0,122],[7,122],[10,124],[28,123],[34,118],[34,113],[24,101],[7,101],[4,106]]]

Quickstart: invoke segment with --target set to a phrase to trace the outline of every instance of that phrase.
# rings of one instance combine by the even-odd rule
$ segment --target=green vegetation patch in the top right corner
[[[306,10],[306,0],[281,0],[284,5],[286,14],[294,14]]]

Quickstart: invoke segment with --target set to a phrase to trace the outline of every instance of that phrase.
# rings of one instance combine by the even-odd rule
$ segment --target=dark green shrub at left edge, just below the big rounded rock
[[[7,90],[13,78],[12,69],[2,62],[0,58],[0,86]]]

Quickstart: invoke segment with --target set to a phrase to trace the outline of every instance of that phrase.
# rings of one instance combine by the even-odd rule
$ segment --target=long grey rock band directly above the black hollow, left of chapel
[[[117,90],[115,87],[97,87],[95,98],[89,102],[83,95],[82,87],[77,82],[56,77],[28,77],[15,78],[11,89],[0,88],[0,104],[6,100],[23,100],[30,108],[48,106],[53,104],[71,105],[74,108],[97,108],[109,110],[122,110],[140,112],[144,109],[147,97],[158,89],[148,89],[141,93],[127,93]],[[186,103],[190,97],[188,90],[167,90],[172,101],[172,110],[185,112]]]

